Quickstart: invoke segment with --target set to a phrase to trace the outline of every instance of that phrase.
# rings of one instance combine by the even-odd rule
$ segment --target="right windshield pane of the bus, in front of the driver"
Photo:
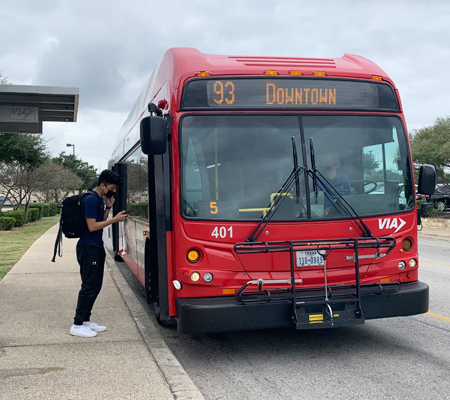
[[[323,159],[331,157],[335,161],[335,173],[340,178],[339,185],[332,186],[358,214],[394,213],[414,207],[413,193],[409,188],[412,175],[407,142],[399,119],[314,116],[304,117],[303,122],[305,137],[312,137],[314,141],[319,172],[330,182],[336,181],[337,178],[328,173],[326,164],[329,161],[324,164]],[[319,189],[323,188],[319,186]],[[327,194],[327,190],[323,191],[326,211],[324,215],[313,212],[312,218],[344,217],[348,214],[342,207],[334,207],[336,203],[332,196]],[[317,209],[318,203],[312,203],[312,208]]]

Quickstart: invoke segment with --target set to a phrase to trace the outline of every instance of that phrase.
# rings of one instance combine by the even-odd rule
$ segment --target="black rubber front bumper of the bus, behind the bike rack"
[[[362,288],[361,309],[364,319],[416,315],[428,311],[427,284],[404,283],[398,285],[395,291],[379,290],[382,286]],[[330,305],[333,307],[333,299],[330,299]],[[234,297],[177,298],[176,307],[177,329],[181,333],[295,327],[290,300],[261,300],[242,304]],[[308,328],[305,326],[305,329]]]

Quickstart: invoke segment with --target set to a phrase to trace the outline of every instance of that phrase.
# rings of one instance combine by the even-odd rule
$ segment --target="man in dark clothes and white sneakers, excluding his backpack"
[[[122,179],[111,170],[104,170],[98,178],[98,186],[87,195],[82,203],[87,231],[77,243],[77,260],[80,264],[81,290],[78,294],[74,324],[70,334],[81,337],[94,337],[97,332],[106,330],[106,326],[90,321],[91,310],[100,293],[105,266],[105,249],[103,247],[103,228],[114,222],[124,221],[128,214],[117,213],[108,220],[114,204],[114,193]],[[106,207],[103,197],[106,197]]]

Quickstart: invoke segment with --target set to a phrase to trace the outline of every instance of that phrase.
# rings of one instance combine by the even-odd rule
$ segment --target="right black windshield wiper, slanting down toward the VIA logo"
[[[344,197],[339,193],[336,188],[333,187],[333,185],[328,182],[328,180],[320,173],[320,171],[316,168],[315,163],[315,157],[314,157],[314,145],[312,138],[309,139],[310,143],[310,152],[311,152],[311,166],[312,168],[308,170],[308,175],[311,176],[313,180],[313,189],[314,189],[314,196],[317,203],[317,191],[318,191],[318,185],[317,181],[320,183],[320,186],[322,187],[322,190],[324,191],[325,196],[327,197],[328,201],[330,201],[331,206],[335,207],[341,214],[343,210],[347,215],[349,215],[353,220],[355,221],[356,225],[358,225],[359,229],[361,229],[361,234],[363,237],[372,237],[372,232],[370,231],[369,227],[364,223],[364,221],[361,219],[361,217],[358,215],[358,213],[354,210],[354,208],[348,203],[347,200],[344,199]],[[327,193],[325,193],[325,191]],[[331,196],[331,199],[328,197],[328,195]],[[331,200],[334,200],[333,202]],[[340,207],[340,209],[337,207],[337,205]],[[353,212],[349,211],[349,209]]]

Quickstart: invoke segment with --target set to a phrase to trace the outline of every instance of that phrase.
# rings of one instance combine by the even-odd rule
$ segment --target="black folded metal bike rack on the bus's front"
[[[376,284],[361,285],[359,259],[385,257],[392,251],[395,244],[396,241],[392,237],[236,243],[234,251],[237,254],[289,252],[291,277],[279,280],[251,280],[236,292],[235,299],[244,305],[261,301],[285,302],[289,300],[292,303],[292,319],[297,329],[363,324],[361,287],[375,287],[380,292],[383,291],[383,287]],[[360,256],[361,249],[374,249],[375,254]],[[306,287],[301,285],[301,279],[295,279],[296,252],[310,250],[316,250],[323,257],[323,286]],[[332,252],[339,250],[353,250],[353,256],[347,256],[345,259],[354,261],[354,283],[330,286],[327,281],[327,258]],[[314,269],[317,269],[317,266],[314,266]],[[308,267],[302,267],[302,271],[306,270]],[[276,285],[276,287],[264,288],[264,285],[269,284]],[[256,288],[251,289],[254,286]],[[392,290],[398,290],[398,285],[391,286]]]

